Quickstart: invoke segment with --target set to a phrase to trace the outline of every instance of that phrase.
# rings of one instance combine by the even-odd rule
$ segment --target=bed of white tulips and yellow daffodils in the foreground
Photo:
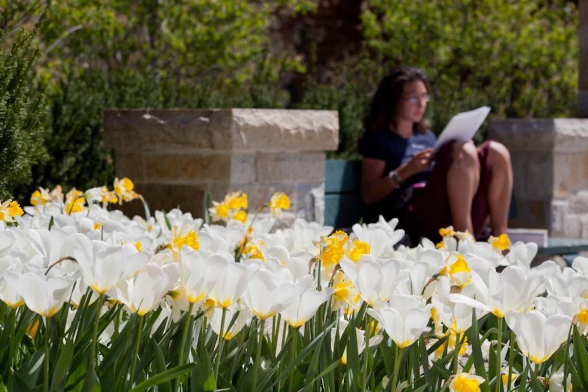
[[[535,244],[451,227],[395,249],[396,220],[272,231],[283,193],[273,217],[213,202],[222,224],[107,208],[136,198],[125,178],[2,204],[0,388],[588,390],[584,257],[531,268]]]

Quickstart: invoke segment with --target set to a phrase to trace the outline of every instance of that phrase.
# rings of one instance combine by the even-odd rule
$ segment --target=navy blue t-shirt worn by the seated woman
[[[359,152],[363,158],[379,159],[386,162],[382,173],[382,177],[386,177],[398,166],[409,162],[415,153],[435,146],[436,140],[437,138],[430,131],[415,132],[412,138],[405,139],[390,130],[382,130],[366,133],[360,143]],[[379,215],[383,215],[387,220],[393,217],[402,217],[413,196],[412,185],[426,182],[431,171],[432,166],[408,179],[403,179],[399,189],[373,205],[365,206],[363,214],[365,222],[376,222]]]

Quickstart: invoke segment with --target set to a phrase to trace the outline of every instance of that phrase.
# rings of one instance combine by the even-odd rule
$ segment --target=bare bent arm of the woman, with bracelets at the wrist
[[[412,159],[396,167],[400,180],[420,173],[429,167],[432,157],[432,149],[425,149],[417,152]],[[385,176],[382,177],[386,162],[380,159],[363,158],[362,160],[362,200],[370,206],[378,200],[390,195],[395,190],[392,181]]]

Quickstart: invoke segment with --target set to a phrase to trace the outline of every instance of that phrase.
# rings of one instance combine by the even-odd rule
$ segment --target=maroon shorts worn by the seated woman
[[[413,243],[420,237],[433,242],[440,240],[439,229],[452,225],[449,196],[447,195],[447,172],[452,163],[453,143],[443,145],[435,155],[435,167],[426,186],[417,190],[406,210],[402,222]],[[477,148],[480,168],[480,183],[472,201],[472,225],[474,235],[480,236],[490,213],[488,189],[492,179],[492,169],[488,153],[490,140]],[[415,189],[416,190],[416,189]]]

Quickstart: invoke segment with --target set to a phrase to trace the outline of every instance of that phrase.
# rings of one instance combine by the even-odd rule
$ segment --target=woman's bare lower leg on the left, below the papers
[[[473,233],[472,200],[480,183],[477,150],[473,142],[453,145],[453,161],[447,172],[447,195],[453,227]]]

